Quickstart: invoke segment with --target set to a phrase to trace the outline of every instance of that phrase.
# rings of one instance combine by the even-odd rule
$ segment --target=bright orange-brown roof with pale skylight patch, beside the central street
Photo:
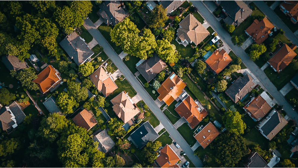
[[[185,86],[184,82],[172,73],[157,89],[160,94],[158,100],[163,100],[169,106],[182,93]]]

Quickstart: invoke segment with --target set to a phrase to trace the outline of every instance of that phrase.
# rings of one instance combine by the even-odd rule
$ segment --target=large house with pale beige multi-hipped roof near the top
[[[177,30],[177,37],[187,44],[194,43],[196,46],[209,36],[207,29],[195,19],[192,14],[187,15],[180,23]]]

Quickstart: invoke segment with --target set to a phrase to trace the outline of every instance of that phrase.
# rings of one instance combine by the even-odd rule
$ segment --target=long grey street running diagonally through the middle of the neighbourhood
[[[159,121],[162,123],[164,128],[169,132],[171,137],[176,141],[183,151],[187,154],[190,160],[196,167],[203,167],[202,161],[194,155],[193,150],[190,148],[189,144],[183,139],[183,137],[179,134],[179,132],[173,127],[173,125],[168,121],[167,117],[164,113],[159,109],[159,107],[155,104],[154,100],[150,97],[144,87],[137,81],[135,76],[131,73],[131,71],[126,67],[126,65],[119,58],[117,53],[113,50],[113,48],[108,44],[103,35],[97,30],[90,19],[86,19],[84,21],[84,26],[89,31],[89,33],[96,39],[96,41],[103,47],[105,53],[109,56],[111,61],[114,62],[116,67],[121,71],[121,73],[125,76],[125,78],[129,81],[129,83],[134,87],[137,93],[142,97],[144,102],[148,105],[150,110],[156,115]]]

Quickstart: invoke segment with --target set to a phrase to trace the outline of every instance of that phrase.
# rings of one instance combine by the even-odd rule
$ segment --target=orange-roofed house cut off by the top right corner
[[[291,17],[291,21],[296,24],[298,21],[298,1],[285,0],[280,4],[280,10],[283,11],[285,15]]]

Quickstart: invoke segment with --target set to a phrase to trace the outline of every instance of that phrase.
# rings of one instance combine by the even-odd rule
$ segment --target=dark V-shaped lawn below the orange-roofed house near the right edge
[[[291,62],[284,70],[277,73],[270,66],[264,70],[277,90],[281,90],[298,72],[298,62]]]

